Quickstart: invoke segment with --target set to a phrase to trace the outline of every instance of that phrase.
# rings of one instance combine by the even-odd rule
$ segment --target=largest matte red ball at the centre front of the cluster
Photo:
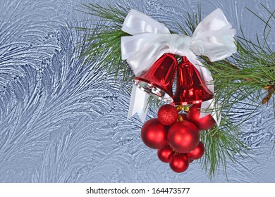
[[[199,144],[200,132],[192,122],[176,122],[168,131],[167,141],[175,151],[189,153]]]

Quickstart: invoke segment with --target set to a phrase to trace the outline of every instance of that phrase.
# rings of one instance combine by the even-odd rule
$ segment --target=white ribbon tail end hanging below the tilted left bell
[[[128,111],[128,119],[138,113],[140,120],[145,122],[145,117],[148,110],[149,94],[139,89],[133,84],[132,94],[130,98],[130,107]]]

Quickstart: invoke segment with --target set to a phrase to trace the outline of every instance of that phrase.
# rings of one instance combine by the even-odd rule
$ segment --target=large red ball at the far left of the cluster
[[[145,122],[141,129],[141,139],[149,148],[159,149],[167,145],[169,127],[162,125],[157,118]]]

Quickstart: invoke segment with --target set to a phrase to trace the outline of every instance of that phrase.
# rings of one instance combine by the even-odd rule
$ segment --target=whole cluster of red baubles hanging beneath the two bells
[[[169,163],[175,172],[184,172],[189,163],[204,154],[200,130],[215,125],[211,115],[200,118],[200,104],[193,104],[187,114],[178,114],[175,106],[159,108],[158,118],[145,122],[141,130],[142,141],[149,148],[158,149],[159,160]]]

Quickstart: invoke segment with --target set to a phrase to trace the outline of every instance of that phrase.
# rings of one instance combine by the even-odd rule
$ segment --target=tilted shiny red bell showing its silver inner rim
[[[134,84],[154,97],[166,102],[173,102],[172,86],[177,64],[173,54],[165,53],[149,70],[139,77],[135,77]]]

